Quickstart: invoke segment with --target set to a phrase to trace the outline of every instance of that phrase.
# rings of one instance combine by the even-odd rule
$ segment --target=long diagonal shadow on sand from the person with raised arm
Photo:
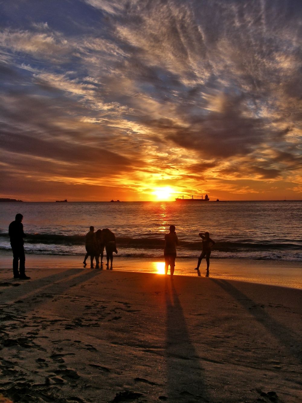
[[[259,303],[257,304],[228,281],[215,278],[211,278],[211,281],[232,295],[249,314],[252,314],[262,326],[267,328],[267,330],[279,340],[281,345],[285,346],[288,351],[290,351],[293,357],[300,358],[301,361],[301,339],[298,334],[295,334],[292,329],[286,328],[280,322],[272,318],[263,307],[259,306]]]

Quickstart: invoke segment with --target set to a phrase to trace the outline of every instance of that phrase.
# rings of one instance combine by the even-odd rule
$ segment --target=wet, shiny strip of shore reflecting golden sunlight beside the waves
[[[83,269],[83,257],[81,255],[26,254],[26,272],[30,276],[30,270],[36,268],[47,268],[48,270],[54,268]],[[103,262],[106,262],[105,257]],[[12,272],[11,251],[0,252],[0,264],[1,268],[11,268]],[[196,264],[197,259],[181,258],[177,260],[176,258],[174,276],[198,277],[197,270],[194,270]],[[103,264],[103,269],[106,269],[105,264]],[[89,264],[87,264],[85,270],[91,270]],[[113,270],[164,274],[164,260],[163,258],[144,259],[114,256]],[[205,272],[206,262],[203,260],[200,267],[201,277],[205,276]],[[301,262],[297,261],[211,258],[210,277],[302,289]]]

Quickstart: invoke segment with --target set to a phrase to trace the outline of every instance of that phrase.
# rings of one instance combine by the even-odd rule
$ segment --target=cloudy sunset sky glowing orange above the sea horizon
[[[302,199],[300,0],[0,10],[0,197]]]

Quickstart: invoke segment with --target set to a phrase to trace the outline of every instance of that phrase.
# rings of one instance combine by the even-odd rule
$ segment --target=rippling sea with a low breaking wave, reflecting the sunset
[[[302,201],[271,202],[2,202],[0,250],[8,225],[23,214],[26,253],[83,255],[85,234],[109,228],[118,256],[161,258],[164,234],[176,226],[178,259],[196,258],[199,232],[216,241],[211,258],[302,261]]]

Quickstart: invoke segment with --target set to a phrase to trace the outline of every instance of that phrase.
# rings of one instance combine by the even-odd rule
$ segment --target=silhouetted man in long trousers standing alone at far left
[[[15,220],[9,224],[8,235],[10,236],[10,246],[12,247],[12,271],[14,273],[14,278],[20,278],[20,280],[29,280],[30,277],[25,274],[25,252],[24,252],[24,241],[23,238],[26,237],[23,232],[23,215],[16,214]],[[18,265],[20,261],[20,267],[18,270]]]

